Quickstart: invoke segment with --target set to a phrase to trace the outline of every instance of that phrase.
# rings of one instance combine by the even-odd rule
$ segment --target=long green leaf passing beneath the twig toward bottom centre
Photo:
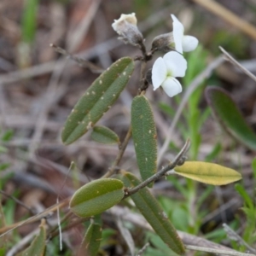
[[[130,172],[123,171],[121,174],[121,179],[128,188],[136,187],[141,183],[137,177]],[[166,242],[168,247],[175,253],[184,253],[183,243],[177,236],[177,231],[149,190],[147,188],[140,189],[136,194],[131,195],[131,199],[134,201],[139,211],[142,212],[144,218],[146,218],[148,223],[152,226],[155,233]]]

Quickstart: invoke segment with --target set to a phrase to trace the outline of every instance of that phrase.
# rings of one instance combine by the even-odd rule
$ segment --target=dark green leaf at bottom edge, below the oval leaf
[[[96,256],[102,241],[102,227],[92,223],[87,229],[84,240],[79,247],[79,255]]]

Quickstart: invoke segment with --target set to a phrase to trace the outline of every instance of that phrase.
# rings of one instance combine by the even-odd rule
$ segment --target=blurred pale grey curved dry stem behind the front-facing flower
[[[211,74],[212,70],[214,70],[216,67],[218,67],[220,64],[224,62],[224,56],[220,55],[218,58],[213,60],[205,70],[203,70],[193,81],[191,84],[189,84],[188,89],[185,91],[185,94],[183,96],[183,99],[181,103],[179,104],[177,108],[177,112],[174,116],[174,119],[172,120],[172,125],[170,126],[169,130],[167,131],[167,137],[166,141],[163,144],[163,146],[160,148],[160,153],[158,156],[158,166],[160,165],[160,161],[162,160],[164,154],[166,153],[166,150],[168,149],[169,143],[172,140],[172,133],[177,125],[177,121],[183,112],[183,108],[185,107],[185,104],[189,100],[189,96],[201,85],[201,83],[204,81],[204,79],[207,79]]]

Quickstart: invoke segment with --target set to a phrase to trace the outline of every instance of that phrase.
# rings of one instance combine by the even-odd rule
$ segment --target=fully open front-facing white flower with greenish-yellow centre
[[[175,78],[183,77],[187,69],[187,61],[183,55],[176,51],[166,53],[164,57],[159,57],[152,68],[152,84],[154,90],[160,86],[170,97],[182,92],[182,86]]]

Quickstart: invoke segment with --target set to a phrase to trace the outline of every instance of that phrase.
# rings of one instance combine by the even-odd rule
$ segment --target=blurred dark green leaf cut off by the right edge
[[[221,88],[211,86],[206,90],[207,102],[212,108],[216,118],[237,141],[243,143],[247,148],[256,150],[256,134],[247,125],[236,103],[229,93]]]

